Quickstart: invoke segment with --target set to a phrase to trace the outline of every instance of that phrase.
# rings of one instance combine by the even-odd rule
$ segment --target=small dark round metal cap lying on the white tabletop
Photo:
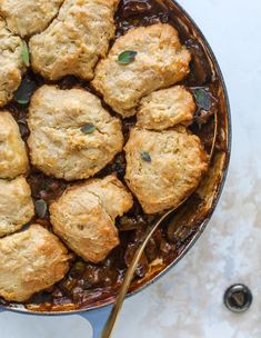
[[[233,312],[247,311],[253,300],[253,296],[248,287],[237,284],[228,288],[224,294],[224,305]]]

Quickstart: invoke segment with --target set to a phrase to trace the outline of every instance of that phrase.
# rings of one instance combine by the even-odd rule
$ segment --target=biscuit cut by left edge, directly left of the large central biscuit
[[[14,178],[28,170],[26,145],[8,111],[0,111],[0,178]]]

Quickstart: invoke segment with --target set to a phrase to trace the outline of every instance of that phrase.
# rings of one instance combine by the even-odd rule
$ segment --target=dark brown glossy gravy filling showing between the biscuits
[[[116,14],[117,37],[126,33],[130,28],[139,26],[148,26],[155,22],[169,22],[174,26],[180,33],[182,42],[190,49],[193,60],[191,62],[191,72],[182,84],[194,88],[204,88],[212,96],[212,106],[209,111],[198,109],[194,123],[191,130],[199,135],[203,141],[207,151],[210,150],[213,137],[213,112],[219,109],[218,88],[219,79],[213,73],[205,52],[201,44],[191,37],[181,24],[179,16],[174,9],[168,9],[155,0],[123,0],[119,6]],[[43,79],[28,71],[24,81],[31,81],[36,88],[44,83]],[[89,83],[83,82],[74,77],[66,77],[58,83],[60,88],[72,88],[81,86],[88,90]],[[103,102],[106,106],[106,103]],[[107,106],[106,106],[107,107]],[[27,107],[11,102],[8,107],[17,119],[22,138],[27,141],[29,129],[27,126]],[[111,111],[110,108],[107,107]],[[113,111],[111,111],[116,115]],[[130,128],[134,125],[135,119],[127,119],[123,121],[124,136],[128,138]],[[222,142],[217,142],[218,148],[222,148]],[[123,153],[117,156],[113,163],[107,166],[97,177],[116,172],[123,180],[126,170],[126,160]],[[59,196],[62,195],[68,187],[68,182],[44,176],[36,168],[31,168],[28,181],[32,189],[34,200],[43,199],[50,205]],[[199,208],[199,197],[194,195],[188,201],[188,208]],[[116,248],[103,264],[93,265],[83,262],[79,257],[71,261],[71,269],[67,277],[56,286],[34,296],[28,308],[34,310],[48,311],[62,309],[67,305],[73,304],[72,308],[91,307],[103,299],[112,299],[117,294],[119,286],[124,277],[124,271],[130,264],[137,246],[142,240],[147,226],[155,219],[155,216],[147,216],[142,212],[138,201],[134,207],[122,218],[117,219],[117,226],[120,231],[121,245]],[[34,218],[32,222],[39,222],[51,230],[49,216],[43,219]],[[188,226],[181,223],[178,229],[170,227],[159,229],[151,238],[144,255],[137,268],[137,279],[143,278],[149,270],[149,265],[155,258],[161,258],[165,264],[173,261],[175,257],[184,249],[190,239],[194,236],[199,223]],[[4,301],[3,301],[4,304]],[[70,307],[70,306],[69,306]]]

